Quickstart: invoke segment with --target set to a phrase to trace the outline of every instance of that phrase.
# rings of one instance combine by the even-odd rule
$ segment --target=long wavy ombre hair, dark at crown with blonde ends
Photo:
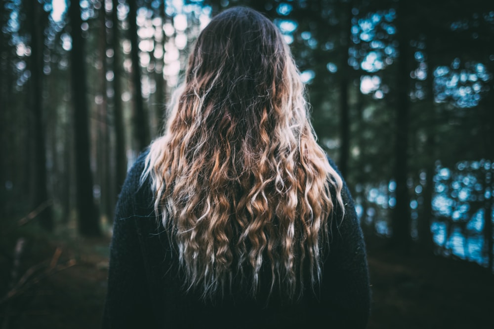
[[[150,146],[155,211],[177,247],[188,289],[203,297],[261,267],[290,298],[322,275],[331,190],[342,181],[316,143],[304,86],[283,36],[243,7],[215,16],[197,39],[165,134]]]

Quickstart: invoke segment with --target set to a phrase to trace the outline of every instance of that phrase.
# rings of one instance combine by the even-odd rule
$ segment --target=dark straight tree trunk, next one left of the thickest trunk
[[[30,108],[33,113],[34,138],[34,205],[36,208],[48,200],[46,188],[46,145],[43,122],[43,40],[47,14],[38,1],[27,6],[28,22],[31,32],[31,81],[29,85]],[[48,231],[53,230],[51,207],[45,208],[39,215],[41,227]]]

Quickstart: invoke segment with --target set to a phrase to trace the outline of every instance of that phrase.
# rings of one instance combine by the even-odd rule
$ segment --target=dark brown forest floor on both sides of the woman
[[[109,238],[33,234],[17,254],[17,238],[0,239],[1,329],[100,327]],[[484,268],[442,257],[399,257],[377,247],[368,252],[369,329],[494,328],[494,276]],[[15,259],[18,273],[12,280],[7,269]],[[25,288],[16,288],[22,280]],[[14,295],[2,302],[6,291]]]

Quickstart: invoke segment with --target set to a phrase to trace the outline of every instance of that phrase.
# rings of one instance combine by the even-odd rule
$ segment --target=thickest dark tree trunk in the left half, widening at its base
[[[79,232],[84,236],[100,235],[99,219],[93,200],[93,178],[90,168],[88,104],[84,39],[81,30],[81,7],[73,1],[69,7],[72,27],[72,101],[74,104],[74,133],[76,140],[76,186]]]

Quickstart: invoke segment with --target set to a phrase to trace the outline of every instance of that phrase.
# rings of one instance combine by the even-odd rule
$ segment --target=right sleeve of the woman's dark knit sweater
[[[334,163],[330,161],[333,168]],[[342,189],[344,217],[335,203],[329,253],[324,262],[321,304],[332,328],[365,328],[370,313],[370,284],[364,236],[346,183]],[[334,198],[333,198],[334,200]],[[324,310],[322,310],[324,312]]]

